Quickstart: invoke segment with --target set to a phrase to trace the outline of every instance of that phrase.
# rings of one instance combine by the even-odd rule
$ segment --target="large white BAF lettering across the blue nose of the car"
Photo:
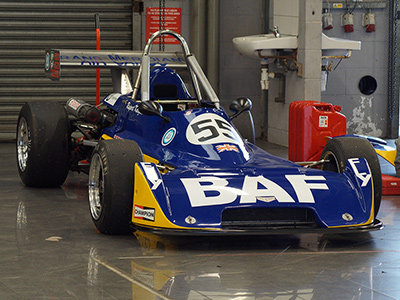
[[[315,203],[311,190],[328,190],[323,176],[286,175],[300,203]],[[241,204],[278,201],[291,203],[295,200],[281,186],[264,176],[246,176],[242,188],[230,187],[227,179],[204,176],[200,178],[182,178],[192,207],[228,204],[240,197]]]

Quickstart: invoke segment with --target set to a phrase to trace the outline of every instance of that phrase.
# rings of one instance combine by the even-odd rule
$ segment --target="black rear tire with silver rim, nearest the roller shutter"
[[[70,134],[65,108],[54,102],[25,103],[18,116],[17,166],[29,187],[57,187],[69,171]]]

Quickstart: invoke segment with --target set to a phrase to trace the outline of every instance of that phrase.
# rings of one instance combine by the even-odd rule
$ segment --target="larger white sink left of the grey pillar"
[[[293,50],[297,48],[297,36],[281,34],[279,38],[273,33],[236,37],[233,40],[236,49],[245,56],[260,59],[262,56],[274,56],[276,50]],[[272,61],[271,61],[272,62]]]

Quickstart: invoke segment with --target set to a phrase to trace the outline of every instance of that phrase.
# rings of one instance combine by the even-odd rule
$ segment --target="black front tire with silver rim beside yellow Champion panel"
[[[134,167],[143,154],[135,141],[102,140],[93,151],[89,170],[89,208],[97,230],[132,232]]]

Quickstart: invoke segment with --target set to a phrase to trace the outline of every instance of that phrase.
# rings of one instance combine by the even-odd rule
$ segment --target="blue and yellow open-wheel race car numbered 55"
[[[169,35],[182,53],[150,54]],[[382,228],[379,162],[362,138],[328,141],[321,160],[301,165],[241,138],[231,120],[251,109],[220,105],[185,39],[153,34],[142,53],[48,50],[46,73],[110,68],[114,92],[94,106],[70,98],[26,103],[17,130],[23,183],[63,184],[88,173],[90,214],[102,233],[184,235],[363,232]],[[128,70],[138,68],[132,87]],[[181,71],[185,71],[182,74]]]

